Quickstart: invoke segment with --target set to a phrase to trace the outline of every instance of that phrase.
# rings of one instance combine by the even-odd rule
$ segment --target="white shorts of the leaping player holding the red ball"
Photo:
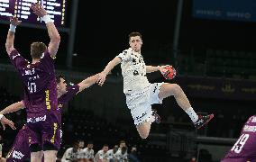
[[[126,94],[126,104],[131,110],[135,125],[139,125],[143,121],[151,121],[151,104],[162,103],[162,100],[159,98],[160,86],[162,84],[151,84],[142,93]]]

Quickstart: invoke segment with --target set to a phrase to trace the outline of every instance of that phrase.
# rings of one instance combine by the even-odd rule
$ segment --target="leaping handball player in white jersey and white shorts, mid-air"
[[[134,124],[142,139],[149,136],[151,122],[159,122],[160,117],[151,110],[151,104],[162,103],[164,98],[173,95],[178,105],[187,112],[197,129],[210,121],[214,114],[202,116],[192,108],[187,100],[186,94],[177,84],[153,83],[151,84],[146,76],[147,73],[160,71],[164,68],[146,66],[142,58],[142,34],[132,32],[129,34],[130,48],[123,50],[118,56],[111,60],[105,69],[99,74],[98,84],[105,83],[105,76],[118,64],[121,63],[123,75],[123,93],[126,95],[126,104],[133,116]]]

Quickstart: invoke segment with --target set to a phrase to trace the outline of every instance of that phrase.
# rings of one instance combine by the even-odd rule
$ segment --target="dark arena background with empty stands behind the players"
[[[69,82],[78,83],[103,70],[109,60],[128,48],[128,34],[140,31],[146,64],[170,64],[178,69],[178,76],[171,81],[155,72],[149,75],[150,82],[181,85],[194,109],[213,112],[215,119],[197,131],[170,97],[153,106],[162,121],[152,125],[148,139],[140,139],[125,105],[118,66],[103,87],[93,85],[65,108],[64,137],[58,157],[76,139],[86,143],[92,140],[95,151],[105,143],[112,148],[124,139],[128,148],[137,146],[138,157],[145,162],[183,162],[192,157],[211,162],[224,157],[239,137],[244,121],[256,112],[256,23],[255,13],[251,12],[256,5],[250,0],[234,2],[216,1],[207,6],[200,0],[69,1],[65,26],[69,31],[59,31],[61,43],[56,59],[57,71]],[[238,9],[227,14],[230,8]],[[8,28],[5,23],[0,24],[1,109],[23,97],[21,82],[5,52]],[[47,31],[16,29],[14,44],[25,58],[30,58],[29,47],[34,40],[48,42]],[[70,43],[74,45],[72,51]],[[25,122],[23,111],[7,117],[18,129]],[[3,157],[16,133],[10,128],[1,130]]]

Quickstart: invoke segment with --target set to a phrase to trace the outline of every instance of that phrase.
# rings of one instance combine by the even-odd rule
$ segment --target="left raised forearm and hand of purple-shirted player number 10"
[[[8,31],[6,42],[5,42],[5,49],[8,55],[10,55],[11,52],[14,50],[14,34],[15,34],[16,26],[22,22],[19,21],[17,17],[12,17],[10,19],[10,23],[11,23],[10,29]]]

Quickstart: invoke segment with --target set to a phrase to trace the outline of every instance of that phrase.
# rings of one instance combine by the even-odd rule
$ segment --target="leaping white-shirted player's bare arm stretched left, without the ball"
[[[122,62],[122,58],[115,57],[105,66],[105,69],[98,74],[97,83],[103,85],[105,82],[105,76],[117,65]]]

